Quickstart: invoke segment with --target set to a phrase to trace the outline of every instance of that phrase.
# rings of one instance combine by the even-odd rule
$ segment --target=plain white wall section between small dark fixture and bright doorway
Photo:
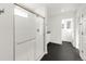
[[[48,28],[51,31],[50,42],[61,43],[61,21],[60,17],[49,17]]]

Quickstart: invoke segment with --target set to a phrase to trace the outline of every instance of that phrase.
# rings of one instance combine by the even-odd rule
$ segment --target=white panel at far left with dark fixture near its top
[[[13,60],[13,4],[0,3],[0,61]]]

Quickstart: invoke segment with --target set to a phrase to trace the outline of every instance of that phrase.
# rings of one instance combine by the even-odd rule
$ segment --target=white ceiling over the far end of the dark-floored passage
[[[74,12],[78,7],[78,3],[50,3],[47,4],[47,11],[50,16],[59,13]]]

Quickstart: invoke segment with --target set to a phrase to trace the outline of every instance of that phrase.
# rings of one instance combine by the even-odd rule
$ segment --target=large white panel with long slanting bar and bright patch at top
[[[35,60],[36,15],[15,7],[15,60]]]

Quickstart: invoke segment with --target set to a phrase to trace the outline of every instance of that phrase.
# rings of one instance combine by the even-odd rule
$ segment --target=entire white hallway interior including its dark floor
[[[0,3],[0,61],[86,61],[86,3]]]

